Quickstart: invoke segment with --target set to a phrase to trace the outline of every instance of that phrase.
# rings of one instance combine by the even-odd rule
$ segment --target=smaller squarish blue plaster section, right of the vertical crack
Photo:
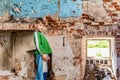
[[[78,17],[82,14],[82,1],[81,0],[61,0],[60,1],[60,14],[62,18]]]

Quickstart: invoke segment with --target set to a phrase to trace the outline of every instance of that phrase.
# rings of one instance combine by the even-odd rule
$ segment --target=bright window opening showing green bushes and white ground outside
[[[87,40],[87,57],[99,59],[110,57],[110,41]]]

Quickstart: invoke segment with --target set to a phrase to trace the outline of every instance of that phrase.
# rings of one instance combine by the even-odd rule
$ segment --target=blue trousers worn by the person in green
[[[43,73],[43,60],[40,54],[36,55],[36,64],[37,64],[36,80],[46,80],[47,72]]]

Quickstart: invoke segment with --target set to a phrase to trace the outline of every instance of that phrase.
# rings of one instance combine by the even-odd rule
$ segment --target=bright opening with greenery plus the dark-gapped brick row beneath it
[[[87,61],[88,64],[107,64],[110,58],[109,39],[87,39]],[[93,61],[92,61],[93,60]]]

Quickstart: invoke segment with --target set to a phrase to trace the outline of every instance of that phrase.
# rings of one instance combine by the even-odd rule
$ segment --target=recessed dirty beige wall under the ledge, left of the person
[[[32,31],[0,33],[0,76],[11,79],[35,78],[35,55]],[[15,76],[17,75],[17,76]]]

